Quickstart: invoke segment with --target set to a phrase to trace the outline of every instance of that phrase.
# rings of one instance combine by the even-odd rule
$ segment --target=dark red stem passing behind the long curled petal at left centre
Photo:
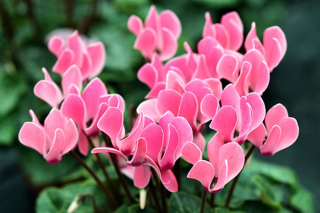
[[[113,147],[113,146],[112,146],[112,143],[111,143],[110,137],[109,137],[106,133],[104,133],[104,132],[101,132],[101,133],[102,133],[102,137],[103,137],[106,145],[107,145],[108,147]],[[124,179],[124,177],[123,177],[123,175],[122,175],[122,173],[121,173],[121,171],[120,171],[116,154],[113,154],[113,153],[109,153],[109,154],[110,154],[110,158],[111,158],[111,161],[112,161],[112,163],[113,163],[113,166],[114,166],[115,169],[116,169],[116,172],[117,172],[117,175],[118,175],[118,177],[119,177],[119,180],[120,180],[120,182],[121,182],[122,185],[123,185],[124,191],[126,192],[126,194],[127,194],[128,198],[129,198],[130,202],[135,203],[136,201],[135,201],[135,199],[133,198],[133,196],[131,195],[131,192],[130,192],[130,190],[129,190],[129,187],[128,187],[128,185],[127,185],[127,183],[126,183],[126,181],[125,181],[125,179]]]

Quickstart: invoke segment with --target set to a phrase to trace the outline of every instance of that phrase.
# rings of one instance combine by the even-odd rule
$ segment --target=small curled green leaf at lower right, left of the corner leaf
[[[263,203],[273,208],[280,209],[282,207],[282,185],[277,184],[263,176],[256,176],[252,179],[252,181],[260,188],[262,192],[261,200]]]

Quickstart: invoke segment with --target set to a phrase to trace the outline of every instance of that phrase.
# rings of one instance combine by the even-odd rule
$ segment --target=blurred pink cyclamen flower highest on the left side
[[[68,67],[76,64],[83,81],[98,76],[105,63],[105,48],[102,42],[85,45],[78,31],[72,33],[67,42],[60,36],[52,36],[48,43],[49,50],[58,60],[52,70],[62,75]]]

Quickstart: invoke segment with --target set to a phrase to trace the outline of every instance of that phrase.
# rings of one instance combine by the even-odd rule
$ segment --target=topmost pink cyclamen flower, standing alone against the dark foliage
[[[163,61],[174,56],[177,51],[181,23],[171,10],[165,10],[158,15],[155,6],[151,6],[144,25],[138,16],[131,15],[128,29],[137,36],[134,49],[141,51],[148,60],[157,51]]]

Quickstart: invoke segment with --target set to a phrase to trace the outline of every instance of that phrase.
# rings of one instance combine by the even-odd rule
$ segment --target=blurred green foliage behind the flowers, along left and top
[[[318,5],[313,2],[305,1],[302,8]],[[204,13],[207,11],[210,12],[213,22],[219,22],[223,14],[235,10],[243,21],[245,35],[252,21],[255,21],[258,36],[262,38],[263,30],[273,25],[281,27],[287,25],[290,29],[290,26],[294,25],[289,19],[292,18],[292,11],[298,11],[302,3],[285,0],[0,0],[0,180],[4,182],[0,186],[0,198],[4,196],[3,192],[9,192],[9,189],[11,195],[18,192],[20,197],[16,199],[27,196],[29,204],[26,206],[32,212],[34,196],[41,186],[57,182],[61,175],[72,173],[77,167],[73,159],[68,156],[65,156],[59,164],[47,164],[35,151],[22,147],[17,138],[21,125],[31,120],[29,109],[35,111],[40,121],[43,121],[50,111],[50,106],[36,98],[32,92],[37,81],[43,79],[41,68],[45,67],[50,71],[56,61],[56,57],[47,48],[48,34],[56,29],[77,29],[90,39],[101,40],[105,45],[107,57],[104,70],[99,77],[112,92],[123,96],[127,108],[138,106],[148,92],[148,88],[136,79],[136,73],[145,61],[141,54],[132,48],[135,36],[127,30],[127,20],[132,14],[144,20],[151,4],[156,5],[158,12],[170,9],[179,17],[182,34],[178,41],[177,55],[180,55],[185,53],[182,45],[184,41],[187,41],[196,52],[196,44],[202,35]],[[306,11],[307,9],[305,13]],[[304,13],[300,14],[303,15]],[[297,21],[299,20],[298,18]],[[290,52],[289,39],[292,34],[287,33],[285,28],[284,32],[288,38],[288,52]],[[275,69],[275,73],[289,72],[281,70],[283,67],[280,65]],[[57,74],[52,72],[50,74],[56,82],[60,81]],[[272,74],[271,82],[273,78],[276,76]],[[290,84],[288,80],[290,77],[283,79],[285,78],[287,82],[283,87],[276,87],[277,89],[282,90],[285,87],[292,89],[292,86],[286,85]],[[272,86],[274,85],[271,83],[270,87]],[[264,99],[267,109],[277,100],[277,97],[273,99],[274,94],[272,89],[266,91]],[[287,97],[287,100],[295,100],[292,93]],[[286,105],[283,99],[279,98],[278,102]],[[293,105],[294,103],[291,103],[292,108]],[[129,110],[126,111],[128,113]],[[292,110],[288,107],[288,111],[289,115],[296,117],[299,122],[298,110],[295,110],[296,114],[290,113]],[[301,137],[301,141],[306,140]],[[290,152],[285,156],[295,157],[292,155]],[[290,159],[282,162],[288,161]],[[41,172],[40,168],[47,168],[49,172]],[[14,178],[9,180],[10,175]],[[298,177],[304,175],[311,174],[298,174]],[[303,185],[308,185],[307,179],[303,181],[305,181]],[[25,182],[28,183],[28,188]],[[20,191],[12,192],[14,186],[8,184],[14,185]],[[312,183],[308,186],[310,184]],[[37,186],[33,187],[35,194],[30,193],[31,186]],[[21,195],[21,190],[25,190],[25,194]],[[10,201],[8,196],[6,199]],[[6,202],[6,199],[0,202],[0,208],[1,205],[11,204]]]

